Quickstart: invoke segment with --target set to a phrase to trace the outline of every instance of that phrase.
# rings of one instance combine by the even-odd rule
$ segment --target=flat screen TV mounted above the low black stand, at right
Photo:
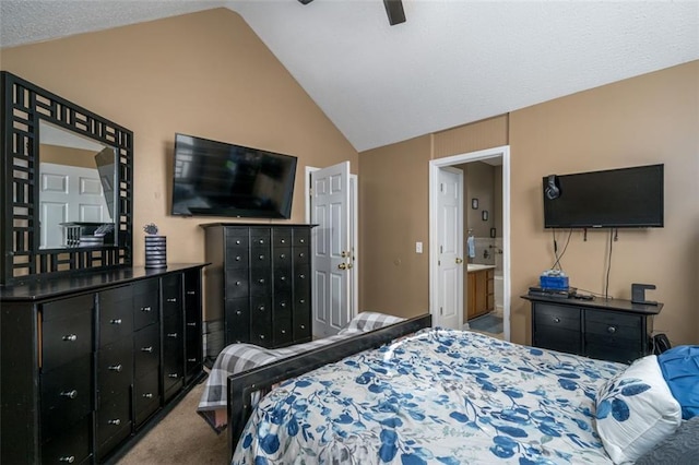
[[[544,227],[663,227],[663,166],[545,176]]]

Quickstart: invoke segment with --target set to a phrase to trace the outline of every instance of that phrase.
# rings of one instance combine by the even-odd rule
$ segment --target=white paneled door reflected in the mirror
[[[39,179],[42,249],[66,246],[61,223],[111,223],[97,169],[42,163]]]

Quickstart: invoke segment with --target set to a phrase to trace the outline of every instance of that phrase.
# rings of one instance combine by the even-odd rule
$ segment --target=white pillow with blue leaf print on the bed
[[[682,421],[657,357],[639,358],[604,383],[596,396],[596,429],[615,464],[635,462],[675,432]]]

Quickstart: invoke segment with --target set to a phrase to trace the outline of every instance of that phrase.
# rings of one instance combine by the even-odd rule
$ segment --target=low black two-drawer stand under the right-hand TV
[[[521,296],[532,303],[532,346],[630,363],[651,353],[653,317],[663,303]]]

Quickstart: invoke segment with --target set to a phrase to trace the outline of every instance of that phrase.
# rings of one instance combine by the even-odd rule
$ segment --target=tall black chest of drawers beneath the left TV
[[[202,227],[210,263],[206,315],[220,327],[208,354],[234,343],[282,347],[310,341],[311,226]]]

